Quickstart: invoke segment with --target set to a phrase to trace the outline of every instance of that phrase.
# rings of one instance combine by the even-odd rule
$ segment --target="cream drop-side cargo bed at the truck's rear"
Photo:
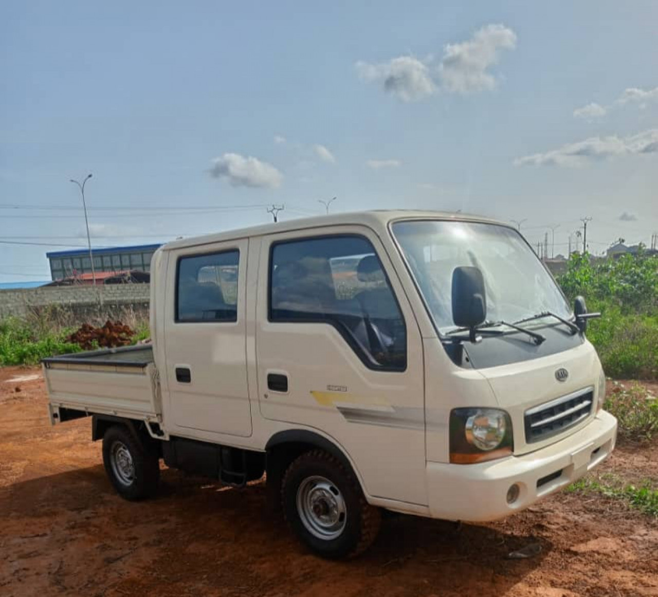
[[[51,422],[59,409],[160,421],[160,384],[153,347],[91,350],[43,359]]]

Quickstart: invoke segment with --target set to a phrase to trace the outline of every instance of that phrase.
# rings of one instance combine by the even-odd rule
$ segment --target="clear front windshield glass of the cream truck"
[[[452,317],[452,275],[462,265],[482,271],[487,321],[514,322],[544,311],[571,317],[553,278],[516,230],[453,221],[395,222],[392,230],[442,333],[457,328]]]

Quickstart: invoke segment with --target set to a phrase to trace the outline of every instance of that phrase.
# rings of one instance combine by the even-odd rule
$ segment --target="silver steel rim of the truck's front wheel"
[[[307,477],[297,489],[297,513],[313,536],[335,539],[345,530],[347,506],[335,483],[324,477]]]

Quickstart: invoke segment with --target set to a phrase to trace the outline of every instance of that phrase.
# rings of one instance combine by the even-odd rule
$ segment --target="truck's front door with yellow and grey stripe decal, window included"
[[[370,495],[426,504],[420,333],[376,234],[264,238],[256,321],[263,417],[332,438]]]

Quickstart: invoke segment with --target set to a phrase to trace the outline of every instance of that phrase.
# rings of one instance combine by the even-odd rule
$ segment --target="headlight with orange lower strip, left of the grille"
[[[470,464],[512,454],[512,422],[495,408],[456,408],[450,413],[450,461]]]

